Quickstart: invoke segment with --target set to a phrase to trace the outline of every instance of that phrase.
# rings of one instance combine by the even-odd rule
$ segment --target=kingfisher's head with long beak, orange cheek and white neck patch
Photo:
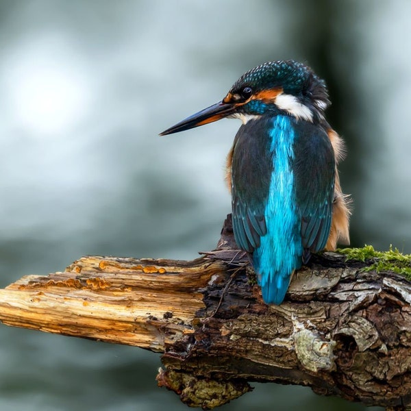
[[[225,117],[247,123],[267,112],[313,122],[323,118],[328,105],[325,82],[308,66],[293,60],[267,62],[243,74],[222,101],[166,129],[160,136]]]

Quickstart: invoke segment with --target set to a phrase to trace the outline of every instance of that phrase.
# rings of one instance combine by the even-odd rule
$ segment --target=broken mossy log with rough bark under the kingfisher
[[[229,224],[216,251],[190,262],[84,257],[0,290],[0,320],[163,352],[158,384],[190,406],[219,406],[252,381],[393,410],[411,403],[404,277],[325,253],[281,306],[266,306],[247,262]]]

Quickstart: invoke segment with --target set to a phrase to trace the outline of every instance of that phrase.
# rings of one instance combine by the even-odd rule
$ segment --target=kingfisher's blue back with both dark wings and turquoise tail
[[[252,253],[264,301],[279,304],[306,253],[325,247],[334,155],[321,127],[272,114],[249,121],[238,131],[232,203],[236,242]]]

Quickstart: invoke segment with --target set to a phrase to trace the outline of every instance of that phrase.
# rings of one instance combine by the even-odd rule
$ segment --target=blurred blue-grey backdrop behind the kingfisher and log
[[[174,136],[267,60],[308,62],[347,141],[352,245],[411,251],[408,0],[0,1],[0,286],[85,254],[192,259],[238,121]],[[134,347],[0,326],[0,410],[186,410]],[[223,410],[363,410],[256,384]]]

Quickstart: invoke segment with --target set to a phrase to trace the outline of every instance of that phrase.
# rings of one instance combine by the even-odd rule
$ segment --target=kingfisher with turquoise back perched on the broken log
[[[293,273],[312,253],[349,244],[350,198],[337,169],[345,145],[325,119],[330,103],[325,81],[306,64],[266,62],[221,101],[160,134],[242,121],[226,180],[234,238],[250,256],[266,304],[284,301]]]

